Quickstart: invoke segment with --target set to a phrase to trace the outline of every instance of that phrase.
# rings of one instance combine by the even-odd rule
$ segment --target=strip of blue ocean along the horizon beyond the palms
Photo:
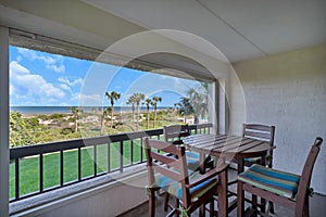
[[[21,114],[53,114],[53,113],[72,113],[71,106],[10,106],[11,112]],[[93,108],[99,110],[100,106],[83,107],[85,112],[91,112]],[[158,110],[166,110],[168,107],[158,107]],[[146,106],[140,106],[140,111],[146,111]],[[152,108],[151,108],[152,111]],[[131,112],[131,106],[114,106],[114,112]]]

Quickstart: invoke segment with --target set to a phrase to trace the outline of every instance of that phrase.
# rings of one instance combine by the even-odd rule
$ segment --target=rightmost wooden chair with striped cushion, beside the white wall
[[[322,142],[322,138],[316,138],[306,157],[301,176],[256,164],[240,174],[238,176],[238,217],[244,214],[244,191],[253,195],[252,208],[255,213],[258,213],[256,196],[261,196],[294,209],[296,217],[309,216],[311,176]]]

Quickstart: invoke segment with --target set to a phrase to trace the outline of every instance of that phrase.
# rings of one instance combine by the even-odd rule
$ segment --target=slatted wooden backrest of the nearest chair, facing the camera
[[[185,146],[176,146],[165,141],[145,138],[148,165],[149,184],[156,183],[155,174],[159,173],[181,183],[184,204],[190,203],[190,192]],[[159,152],[158,152],[159,151]],[[166,155],[168,153],[170,155]]]

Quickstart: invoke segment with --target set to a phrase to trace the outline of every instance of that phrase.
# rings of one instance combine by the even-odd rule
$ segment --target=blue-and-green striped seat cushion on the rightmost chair
[[[240,174],[238,180],[288,199],[294,199],[300,176],[254,164]]]

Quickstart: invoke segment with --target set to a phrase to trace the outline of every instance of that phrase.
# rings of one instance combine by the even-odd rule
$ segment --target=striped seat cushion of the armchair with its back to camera
[[[189,174],[191,171],[189,170]],[[192,180],[200,178],[202,176],[199,171],[191,173],[189,175],[189,182],[191,183]],[[158,187],[162,188],[167,193],[175,195],[179,200],[183,200],[183,188],[181,183],[178,181],[175,181],[166,176],[163,175],[156,175],[156,184]],[[217,190],[217,178],[208,179],[206,181],[203,181],[202,183],[192,187],[190,191],[191,202],[197,201],[200,196],[202,196],[204,193],[210,191],[211,189],[215,188]]]

